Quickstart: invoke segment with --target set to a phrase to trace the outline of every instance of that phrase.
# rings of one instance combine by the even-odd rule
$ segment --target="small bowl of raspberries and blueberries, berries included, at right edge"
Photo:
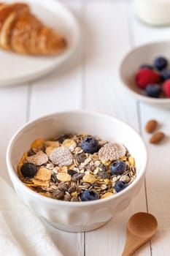
[[[123,88],[136,99],[170,108],[170,42],[134,48],[120,65]]]

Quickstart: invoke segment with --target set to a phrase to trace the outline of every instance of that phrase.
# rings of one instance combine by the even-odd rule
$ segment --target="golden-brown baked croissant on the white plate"
[[[0,3],[0,48],[28,55],[50,55],[66,48],[66,39],[31,14],[27,4]]]

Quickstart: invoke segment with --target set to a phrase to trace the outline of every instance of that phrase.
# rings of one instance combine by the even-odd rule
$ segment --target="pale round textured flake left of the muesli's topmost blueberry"
[[[50,160],[55,165],[71,165],[73,161],[72,153],[69,151],[69,148],[55,148],[50,154]]]

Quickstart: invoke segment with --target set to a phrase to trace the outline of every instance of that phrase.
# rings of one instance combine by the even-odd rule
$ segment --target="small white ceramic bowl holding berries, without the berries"
[[[120,64],[120,79],[123,88],[132,97],[157,107],[170,108],[170,98],[152,98],[144,95],[144,91],[136,86],[135,74],[142,64],[152,64],[158,56],[165,56],[170,67],[170,42],[153,42],[134,48]]]

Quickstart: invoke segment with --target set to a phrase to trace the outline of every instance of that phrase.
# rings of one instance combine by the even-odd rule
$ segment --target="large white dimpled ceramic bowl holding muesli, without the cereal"
[[[34,139],[47,140],[68,132],[85,132],[104,140],[123,143],[136,160],[136,179],[122,192],[90,202],[55,200],[28,189],[17,175],[20,156],[28,151]],[[15,133],[7,148],[9,176],[23,203],[54,227],[71,232],[93,230],[123,211],[142,187],[146,165],[147,150],[134,129],[112,116],[81,110],[53,113],[29,122]]]

